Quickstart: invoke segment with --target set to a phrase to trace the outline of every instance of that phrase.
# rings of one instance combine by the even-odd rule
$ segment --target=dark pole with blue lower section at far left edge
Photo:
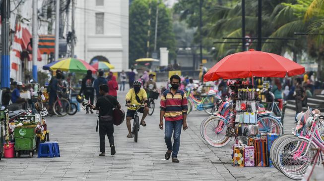
[[[10,47],[9,23],[10,0],[2,0],[1,4],[1,88],[10,88]]]

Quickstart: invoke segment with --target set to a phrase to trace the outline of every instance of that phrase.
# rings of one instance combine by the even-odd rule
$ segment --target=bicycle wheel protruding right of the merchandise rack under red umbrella
[[[258,118],[259,132],[276,133],[282,135],[282,124],[279,120],[272,116],[264,116]]]

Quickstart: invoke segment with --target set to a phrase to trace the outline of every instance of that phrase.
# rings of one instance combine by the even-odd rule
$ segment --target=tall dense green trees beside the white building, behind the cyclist
[[[154,32],[156,8],[159,8],[157,28],[157,48],[167,47],[170,59],[175,57],[175,37],[173,33],[172,16],[168,9],[159,0],[133,0],[130,5],[130,67],[138,58],[146,57],[147,41],[149,40],[149,57],[154,51]],[[149,9],[151,7],[151,14]],[[151,21],[148,26],[148,21]],[[150,30],[150,37],[147,31]]]

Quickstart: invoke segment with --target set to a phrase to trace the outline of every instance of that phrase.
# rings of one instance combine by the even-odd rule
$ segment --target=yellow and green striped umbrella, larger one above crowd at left
[[[77,58],[66,58],[64,60],[58,61],[56,64],[50,67],[51,70],[61,69],[65,72],[79,72],[86,73],[88,70],[91,70],[92,73],[95,73],[97,70],[91,67],[86,61],[77,59]]]

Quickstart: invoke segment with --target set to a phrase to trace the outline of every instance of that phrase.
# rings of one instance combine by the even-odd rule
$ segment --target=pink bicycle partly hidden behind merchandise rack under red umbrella
[[[200,124],[200,135],[213,147],[223,147],[232,140],[233,133],[228,133],[227,127],[232,127],[234,122],[233,101],[223,98],[216,106],[219,115],[212,115],[204,119]],[[220,108],[219,105],[221,105]],[[271,112],[257,114],[259,133],[276,133],[281,135],[283,127],[277,118],[271,116]],[[233,135],[234,136],[234,135]]]

